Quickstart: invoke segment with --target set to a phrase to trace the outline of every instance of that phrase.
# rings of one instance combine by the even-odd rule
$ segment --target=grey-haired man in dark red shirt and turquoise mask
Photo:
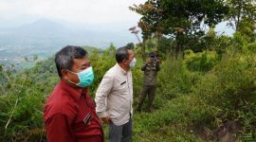
[[[55,56],[61,78],[46,101],[44,121],[49,142],[102,142],[101,121],[88,94],[94,74],[87,52],[65,46]]]

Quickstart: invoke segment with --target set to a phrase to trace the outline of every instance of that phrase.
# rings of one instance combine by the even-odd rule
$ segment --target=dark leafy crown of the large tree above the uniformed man
[[[191,39],[204,35],[202,23],[214,27],[229,11],[224,0],[148,0],[130,9],[142,15],[138,27],[143,40],[154,33],[170,36],[175,40],[176,52],[183,51]]]

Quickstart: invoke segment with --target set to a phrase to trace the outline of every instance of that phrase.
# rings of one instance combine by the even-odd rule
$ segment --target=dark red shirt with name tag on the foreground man
[[[61,80],[44,111],[49,142],[102,142],[101,121],[87,88],[80,91]]]

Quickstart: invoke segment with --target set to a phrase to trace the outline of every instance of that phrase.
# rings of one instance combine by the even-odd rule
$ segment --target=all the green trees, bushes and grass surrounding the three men
[[[249,8],[255,3],[225,2],[195,1],[188,5],[185,1],[174,4],[148,0],[131,8],[142,15],[139,27],[143,26],[144,36],[143,44],[128,44],[137,57],[137,67],[133,69],[134,107],[142,89],[143,52],[155,51],[162,59],[153,113],[135,112],[133,141],[256,141],[255,23],[247,12],[239,16],[232,11],[238,2],[250,4],[245,5]],[[177,11],[181,12],[179,17],[175,16]],[[235,16],[240,17],[236,23],[239,28],[231,37],[217,35],[213,28],[206,33],[201,31],[200,36],[191,30],[198,26],[197,22],[206,21],[211,26]],[[150,28],[146,28],[148,25]],[[183,44],[178,42],[176,26],[186,31],[182,33],[189,40]],[[182,50],[177,52],[180,44]],[[90,87],[94,98],[102,76],[116,63],[116,47],[111,44],[104,51],[84,48],[89,51],[95,72]],[[44,105],[58,80],[53,58],[19,72],[0,65],[0,141],[46,141]],[[104,132],[106,135],[105,125]]]

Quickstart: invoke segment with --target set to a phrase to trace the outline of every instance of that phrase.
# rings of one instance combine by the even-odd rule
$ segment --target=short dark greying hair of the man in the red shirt
[[[62,69],[72,70],[73,59],[82,59],[87,56],[86,50],[81,46],[67,45],[55,54],[55,64],[58,75],[62,78]]]

